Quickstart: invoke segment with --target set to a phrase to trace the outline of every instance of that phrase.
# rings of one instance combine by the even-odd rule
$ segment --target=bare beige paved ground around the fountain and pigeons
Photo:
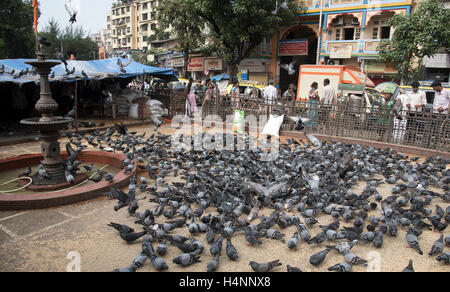
[[[136,128],[139,132],[147,128]],[[152,127],[150,127],[152,129]],[[163,132],[169,133],[165,129]],[[14,147],[0,148],[0,157],[35,153],[39,151],[37,143],[29,143]],[[380,188],[383,196],[390,195],[389,187]],[[355,189],[361,191],[361,189]],[[146,194],[139,194],[143,197]],[[433,202],[432,206],[439,204],[447,207],[442,201]],[[0,212],[0,271],[66,271],[71,266],[73,258],[68,255],[77,252],[80,255],[81,271],[112,271],[116,268],[129,266],[141,249],[141,241],[135,244],[126,244],[118,236],[117,232],[106,224],[113,221],[134,226],[133,218],[127,214],[127,210],[114,212],[114,201],[106,198],[98,198],[88,202],[64,206],[47,210],[35,210],[27,212]],[[140,210],[155,209],[155,204],[148,200],[141,202]],[[269,213],[272,210],[266,210]],[[379,214],[379,211],[373,213]],[[159,218],[158,222],[165,219]],[[329,223],[328,217],[319,217],[321,224]],[[137,228],[138,230],[138,228]],[[319,232],[314,227],[312,234]],[[290,238],[294,229],[281,230]],[[447,234],[450,232],[447,229]],[[182,229],[177,234],[188,235],[187,230]],[[450,271],[448,266],[439,264],[426,253],[433,242],[439,237],[438,233],[425,231],[420,237],[420,244],[425,255],[420,256],[415,251],[405,248],[405,230],[400,230],[397,238],[385,236],[384,247],[374,250],[372,245],[357,245],[353,252],[360,257],[372,260],[371,268],[380,271],[401,271],[413,259],[416,271]],[[202,254],[201,263],[197,263],[187,269],[182,269],[172,263],[172,259],[178,256],[179,251],[169,246],[169,252],[164,257],[169,265],[169,271],[206,271],[206,264],[212,259],[209,246],[204,235],[197,238],[205,243],[205,251]],[[250,260],[266,262],[280,259],[283,267],[276,271],[285,271],[286,264],[300,267],[304,271],[326,271],[326,268],[343,261],[341,255],[333,252],[326,258],[321,267],[315,268],[308,262],[309,257],[324,249],[324,246],[307,246],[301,243],[297,251],[288,250],[285,244],[279,241],[264,239],[260,247],[245,245],[244,235],[241,233],[233,237],[233,243],[237,247],[240,259],[231,262],[224,254],[219,266],[221,272],[251,271],[248,263]],[[156,248],[156,246],[155,246]],[[446,251],[449,251],[446,248]],[[364,267],[355,267],[355,271],[366,271]],[[154,271],[150,263],[147,263],[140,271]]]

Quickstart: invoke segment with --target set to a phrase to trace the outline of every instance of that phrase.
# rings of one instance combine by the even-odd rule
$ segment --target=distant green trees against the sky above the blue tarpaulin
[[[58,22],[51,19],[39,34],[51,43],[50,47],[44,48],[48,58],[56,58],[55,49],[60,51],[61,46],[66,58],[73,54],[77,60],[92,60],[94,53],[98,55],[97,44],[89,38],[82,27],[72,28],[67,25],[61,29]]]

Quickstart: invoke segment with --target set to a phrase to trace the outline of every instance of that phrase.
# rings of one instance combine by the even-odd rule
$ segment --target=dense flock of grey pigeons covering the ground
[[[450,222],[450,207],[444,210],[436,204],[450,202],[450,161],[439,156],[419,162],[418,157],[407,157],[389,148],[321,143],[309,136],[313,145],[288,139],[280,144],[278,159],[268,162],[260,159],[264,155],[261,148],[185,151],[172,148],[172,137],[158,129],[148,138],[145,135],[116,125],[104,133],[96,131],[86,137],[71,138],[78,148],[85,139],[103,151],[123,152],[127,158],[122,169],[130,172],[137,165],[139,173],[148,174],[148,178],[133,176],[127,192],[111,188],[107,193],[110,199],[118,201],[114,210],[128,208],[140,227],[118,223],[109,226],[127,243],[142,238],[140,254],[129,267],[116,270],[119,272],[135,272],[147,259],[155,270],[167,270],[164,256],[169,248],[180,251],[173,263],[183,267],[199,263],[205,249],[200,237],[209,244],[213,257],[205,269],[213,272],[220,265],[224,242],[226,256],[231,261],[239,259],[239,251],[232,243],[239,233],[251,246],[277,240],[296,250],[302,243],[326,243],[323,251],[311,255],[310,264],[320,266],[330,252],[337,252],[343,261],[328,270],[350,272],[355,265],[368,264],[352,253],[354,246],[381,248],[383,238],[397,237],[399,228],[406,228],[404,240],[422,255],[423,230],[442,233]],[[224,134],[228,135],[224,140],[231,138],[237,143],[236,136]],[[215,136],[205,133],[197,138],[192,139],[191,146],[204,139],[214,142]],[[250,149],[255,139],[248,135],[245,138]],[[169,183],[169,177],[183,182]],[[97,181],[102,178],[100,175]],[[352,191],[361,183],[366,186],[360,194]],[[381,184],[392,185],[392,195],[380,193],[377,188]],[[139,202],[146,198],[137,199],[137,192],[149,196],[149,202],[157,204],[156,209],[139,213]],[[264,209],[273,212],[260,216]],[[332,223],[320,225],[317,218],[323,215],[332,217]],[[316,224],[321,232],[311,234],[311,227]],[[285,239],[282,231],[290,226],[296,232]],[[177,229],[185,228],[191,236],[177,234]],[[441,234],[429,247],[428,255],[435,257],[437,264],[450,263],[450,252],[445,251],[445,246],[450,246],[450,236]],[[281,265],[280,261],[249,263],[255,272],[268,272]],[[286,268],[289,272],[301,271],[290,265]],[[412,261],[404,271],[414,271]]]

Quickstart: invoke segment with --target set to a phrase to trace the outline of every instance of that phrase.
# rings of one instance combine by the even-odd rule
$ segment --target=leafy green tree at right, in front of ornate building
[[[420,2],[408,16],[394,15],[389,25],[395,30],[391,40],[378,46],[379,60],[392,63],[402,83],[416,79],[425,57],[432,57],[439,48],[450,48],[450,10],[438,0]]]

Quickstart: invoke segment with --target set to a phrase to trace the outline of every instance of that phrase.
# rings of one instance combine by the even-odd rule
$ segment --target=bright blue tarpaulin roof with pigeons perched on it
[[[111,58],[105,60],[94,60],[94,61],[71,61],[67,60],[67,69],[72,71],[75,68],[73,74],[67,74],[64,64],[59,64],[52,68],[50,73],[50,82],[60,81],[60,82],[74,82],[77,80],[101,80],[107,78],[130,78],[143,75],[155,76],[167,81],[178,81],[177,76],[172,69],[158,68],[152,66],[146,66],[141,63],[131,61],[131,63],[124,69],[126,73],[120,71],[120,67],[117,65],[118,59],[121,59],[123,64],[127,63],[127,59],[123,58]],[[16,83],[25,84],[34,82],[39,83],[39,75],[32,74],[31,70],[33,67],[26,64],[28,61],[36,61],[32,59],[7,59],[0,60],[0,67],[4,65],[4,73],[0,74],[0,83]],[[59,61],[59,60],[50,60]],[[28,72],[26,71],[28,69]],[[27,72],[22,76],[19,76],[20,72]],[[84,71],[87,78],[81,73]],[[14,72],[12,74],[12,72]]]

